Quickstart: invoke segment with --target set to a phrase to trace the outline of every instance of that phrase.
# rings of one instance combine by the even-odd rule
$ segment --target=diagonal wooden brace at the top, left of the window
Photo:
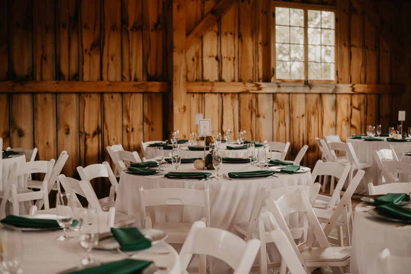
[[[217,24],[217,19],[226,14],[236,2],[237,0],[221,0],[218,2],[206,16],[198,22],[197,26],[186,35],[185,51],[189,50],[207,30],[214,27],[214,25]]]

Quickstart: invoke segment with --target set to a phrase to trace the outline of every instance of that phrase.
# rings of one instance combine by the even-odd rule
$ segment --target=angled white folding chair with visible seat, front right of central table
[[[295,251],[300,252],[307,267],[317,268],[319,266],[331,267],[333,273],[343,273],[341,266],[346,266],[350,262],[351,247],[330,247],[323,229],[303,191],[300,193],[288,193],[279,197],[276,201],[273,198],[266,200],[268,209],[273,214],[278,227],[283,230],[290,244]],[[304,215],[309,224],[309,234],[314,234],[316,239],[315,247],[311,247],[311,235],[300,245],[296,245],[285,217],[299,212]],[[284,269],[285,270],[285,269]],[[312,271],[313,269],[309,269]],[[283,272],[285,273],[285,272]]]

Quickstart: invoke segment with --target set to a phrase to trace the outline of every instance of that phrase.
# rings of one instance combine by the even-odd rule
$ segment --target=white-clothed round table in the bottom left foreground
[[[110,230],[103,226],[100,233]],[[63,230],[22,232],[24,248],[24,273],[55,274],[80,265],[80,261],[87,257],[86,250],[80,246],[80,235],[77,231],[68,232],[75,238],[71,241],[55,240]],[[145,251],[151,252],[147,253]],[[153,252],[169,251],[169,254],[156,255]],[[101,262],[114,262],[127,259],[125,255],[116,250],[93,249],[92,256]],[[158,274],[180,274],[180,260],[177,251],[165,242],[159,242],[152,247],[141,250],[131,259],[153,261],[159,267],[169,267],[167,270],[159,269]]]

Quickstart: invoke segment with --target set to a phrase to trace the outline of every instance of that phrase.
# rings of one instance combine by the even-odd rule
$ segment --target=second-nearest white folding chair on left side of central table
[[[86,181],[90,187],[90,180],[95,178],[108,178],[111,184],[110,194],[108,197],[99,199],[99,201],[103,209],[108,210],[109,207],[114,207],[116,204],[114,196],[117,193],[119,183],[117,182],[116,176],[114,176],[113,170],[111,170],[108,162],[95,163],[85,168],[77,167],[77,171],[79,172],[80,178]]]

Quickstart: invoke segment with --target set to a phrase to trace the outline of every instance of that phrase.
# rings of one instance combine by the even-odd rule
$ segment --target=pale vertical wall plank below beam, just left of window
[[[256,136],[255,140],[273,140],[273,95],[257,94],[255,100]]]

